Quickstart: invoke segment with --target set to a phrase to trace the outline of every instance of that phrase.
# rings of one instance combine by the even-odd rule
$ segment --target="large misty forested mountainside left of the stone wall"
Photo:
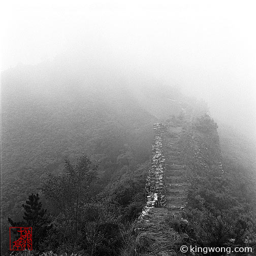
[[[90,155],[99,162],[105,183],[121,168],[117,157],[126,150],[132,151],[135,164],[150,157],[152,124],[158,119],[141,106],[133,86],[127,87],[122,74],[106,65],[65,61],[19,66],[2,74],[5,214],[18,213],[42,175],[63,168],[65,155]]]

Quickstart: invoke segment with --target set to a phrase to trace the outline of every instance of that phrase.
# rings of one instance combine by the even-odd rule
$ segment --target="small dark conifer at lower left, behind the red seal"
[[[47,236],[47,232],[52,228],[51,221],[46,215],[46,209],[42,208],[39,195],[28,196],[26,204],[22,204],[24,216],[22,221],[15,222],[8,218],[13,227],[32,227],[33,249],[40,250],[40,244]]]

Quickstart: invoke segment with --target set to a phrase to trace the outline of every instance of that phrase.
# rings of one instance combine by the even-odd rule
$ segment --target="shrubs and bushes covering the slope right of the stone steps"
[[[202,247],[255,246],[256,177],[253,169],[246,170],[245,167],[249,165],[253,168],[254,159],[244,158],[238,166],[229,153],[220,158],[223,166],[218,166],[214,163],[219,148],[216,123],[205,115],[195,121],[195,127],[194,140],[200,145],[198,150],[202,154],[194,156],[194,161],[187,157],[191,190],[186,208],[188,226],[182,233],[189,236],[190,244]],[[205,168],[205,164],[210,169]],[[181,224],[173,223],[176,230]]]

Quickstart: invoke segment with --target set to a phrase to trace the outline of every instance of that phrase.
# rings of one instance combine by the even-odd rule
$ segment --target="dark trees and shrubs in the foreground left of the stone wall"
[[[89,157],[82,155],[76,165],[66,158],[63,172],[49,174],[41,185],[50,215],[45,216],[39,195],[31,195],[23,205],[26,222],[10,218],[9,222],[13,227],[33,228],[33,253],[119,255],[130,222],[145,204],[145,175],[139,173],[143,169],[139,168],[134,178],[123,175],[99,194],[95,188],[97,166]]]

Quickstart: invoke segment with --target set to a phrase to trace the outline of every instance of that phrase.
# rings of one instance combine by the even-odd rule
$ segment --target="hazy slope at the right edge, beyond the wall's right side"
[[[235,196],[256,210],[256,150],[255,145],[231,127],[219,125],[223,166]]]

